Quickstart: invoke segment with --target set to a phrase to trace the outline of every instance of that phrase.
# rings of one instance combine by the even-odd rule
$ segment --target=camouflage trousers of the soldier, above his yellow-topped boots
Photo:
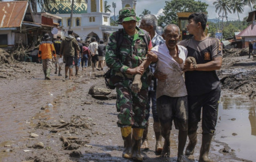
[[[123,80],[115,84],[117,91],[118,127],[131,126],[132,128],[145,128],[148,115],[148,88],[140,92],[131,91],[132,80]]]

